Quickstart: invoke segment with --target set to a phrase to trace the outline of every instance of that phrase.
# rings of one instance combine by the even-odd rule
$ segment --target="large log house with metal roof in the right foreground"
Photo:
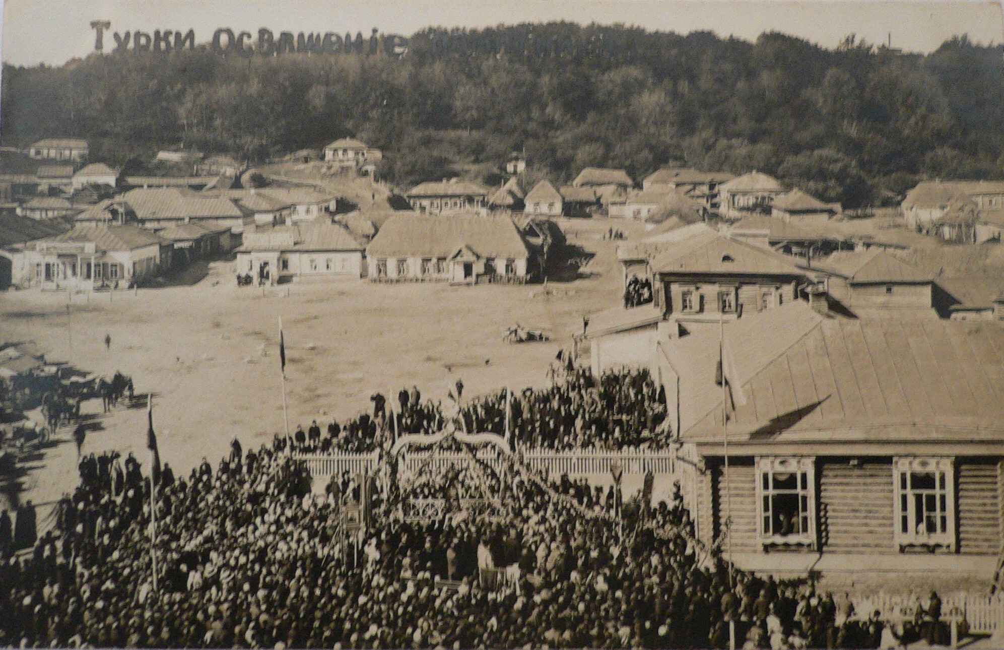
[[[826,318],[792,302],[660,343],[650,369],[689,459],[698,536],[740,568],[873,586],[890,572],[991,580],[998,324]]]

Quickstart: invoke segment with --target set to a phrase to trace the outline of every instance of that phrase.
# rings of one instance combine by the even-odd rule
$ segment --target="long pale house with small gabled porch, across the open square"
[[[366,247],[375,281],[523,282],[530,251],[505,215],[401,214]]]

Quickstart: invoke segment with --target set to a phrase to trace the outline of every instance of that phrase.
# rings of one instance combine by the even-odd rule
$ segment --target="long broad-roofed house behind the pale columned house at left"
[[[251,221],[228,196],[178,188],[130,190],[116,204],[124,206],[127,222],[135,221],[153,230],[191,222],[226,226],[239,233],[245,222]]]

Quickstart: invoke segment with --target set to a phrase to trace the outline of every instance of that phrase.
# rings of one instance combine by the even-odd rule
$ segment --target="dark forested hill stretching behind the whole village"
[[[666,163],[774,174],[861,205],[920,177],[1004,174],[1004,59],[571,23],[415,34],[387,55],[91,55],[3,72],[3,144],[91,142],[119,166],[186,145],[251,159],[354,135],[400,184],[486,174],[513,151],[557,180]],[[491,179],[483,179],[491,180]]]

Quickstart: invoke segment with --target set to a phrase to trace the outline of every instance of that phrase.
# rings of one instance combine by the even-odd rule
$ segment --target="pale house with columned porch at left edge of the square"
[[[53,237],[0,251],[10,260],[11,283],[20,288],[127,287],[170,264],[172,244],[134,225],[73,227]]]

